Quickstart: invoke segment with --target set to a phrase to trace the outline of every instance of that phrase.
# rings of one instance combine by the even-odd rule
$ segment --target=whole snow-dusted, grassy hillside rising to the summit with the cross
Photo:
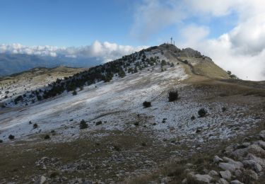
[[[265,120],[262,84],[231,80],[208,57],[174,45],[90,68],[39,94],[59,86],[61,93],[37,103],[26,94],[1,108],[0,182],[43,176],[48,183],[134,183],[168,162],[221,149],[260,130]],[[176,100],[170,91],[178,92]],[[161,183],[164,174],[148,181]]]

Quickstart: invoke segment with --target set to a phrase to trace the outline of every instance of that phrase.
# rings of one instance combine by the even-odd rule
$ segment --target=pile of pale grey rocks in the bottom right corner
[[[255,183],[259,177],[264,177],[265,131],[261,131],[257,137],[261,139],[227,146],[224,152],[226,156],[214,156],[213,164],[218,167],[217,170],[211,170],[206,175],[193,171],[191,176],[204,183],[211,183],[213,179],[220,184]]]

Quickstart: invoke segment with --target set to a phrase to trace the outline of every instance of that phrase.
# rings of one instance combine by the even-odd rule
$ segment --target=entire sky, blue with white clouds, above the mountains
[[[0,53],[102,62],[171,37],[240,79],[265,80],[263,0],[0,0]]]

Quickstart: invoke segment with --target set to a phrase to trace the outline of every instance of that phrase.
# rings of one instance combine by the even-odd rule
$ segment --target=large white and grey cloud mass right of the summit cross
[[[209,38],[215,31],[209,20],[232,15],[237,17],[235,27]],[[170,26],[183,38],[176,40],[180,47],[199,50],[241,79],[265,80],[265,1],[145,0],[134,14],[131,32],[148,39]]]

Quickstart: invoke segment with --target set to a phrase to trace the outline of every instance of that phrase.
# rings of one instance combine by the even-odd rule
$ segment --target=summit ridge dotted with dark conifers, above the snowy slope
[[[96,81],[108,82],[114,75],[124,77],[126,74],[137,73],[143,68],[158,65],[160,65],[161,71],[164,71],[164,68],[176,64],[182,65],[189,75],[199,75],[211,79],[230,78],[223,69],[214,64],[211,58],[201,55],[200,52],[191,48],[180,50],[175,45],[163,44],[125,55],[112,62],[90,67],[87,71],[82,71],[64,79],[57,79],[57,81],[49,84],[47,88],[37,90],[40,93],[32,93],[30,96],[35,97],[28,99],[24,104],[29,104],[32,100],[36,101],[57,96],[64,93],[65,90],[75,91],[76,88],[83,88],[84,85],[90,85]],[[27,94],[23,96],[27,96]],[[18,99],[18,102],[23,100],[21,96]],[[13,101],[13,103],[17,104],[16,101]]]

